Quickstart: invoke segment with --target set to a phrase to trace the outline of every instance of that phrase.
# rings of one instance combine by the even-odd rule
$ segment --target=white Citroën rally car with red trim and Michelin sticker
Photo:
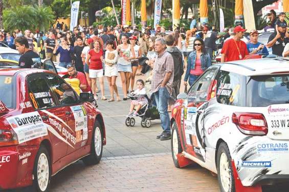
[[[288,182],[289,58],[211,66],[177,96],[171,132],[175,166],[217,173],[221,191]]]

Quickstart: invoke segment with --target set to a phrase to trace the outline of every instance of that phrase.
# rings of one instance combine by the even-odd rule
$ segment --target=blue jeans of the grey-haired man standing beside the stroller
[[[153,95],[160,113],[162,128],[164,131],[170,133],[170,116],[168,113],[169,92],[167,88],[160,88],[159,91],[154,92]]]

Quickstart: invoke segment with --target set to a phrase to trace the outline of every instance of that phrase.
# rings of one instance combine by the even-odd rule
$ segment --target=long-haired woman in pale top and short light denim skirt
[[[123,100],[127,100],[127,90],[129,87],[130,75],[131,75],[131,63],[130,60],[135,59],[135,50],[134,47],[131,47],[130,44],[127,43],[128,37],[123,34],[121,36],[122,44],[118,45],[117,51],[119,52],[118,59],[118,72],[120,73],[121,83],[122,83],[122,91],[124,94]],[[130,51],[132,54],[132,58],[130,58]]]

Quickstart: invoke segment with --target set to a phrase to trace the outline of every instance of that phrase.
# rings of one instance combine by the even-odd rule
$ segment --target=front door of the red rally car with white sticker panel
[[[71,144],[68,154],[80,149],[87,141],[87,114],[76,92],[57,75],[46,75],[49,85],[58,97],[58,107],[65,112],[67,126],[64,134]]]

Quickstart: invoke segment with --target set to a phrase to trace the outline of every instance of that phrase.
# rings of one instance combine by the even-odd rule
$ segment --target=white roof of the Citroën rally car
[[[221,70],[245,76],[289,74],[289,58],[239,60],[219,65]]]

